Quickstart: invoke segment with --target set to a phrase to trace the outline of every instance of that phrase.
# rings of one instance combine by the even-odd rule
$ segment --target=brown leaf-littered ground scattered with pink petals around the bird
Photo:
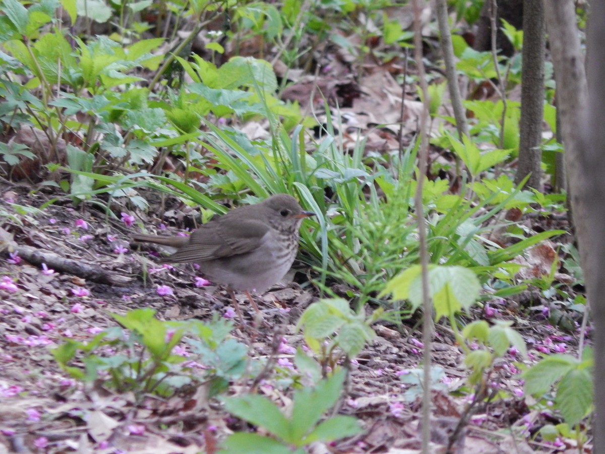
[[[229,417],[220,404],[208,401],[199,389],[168,399],[149,396],[136,405],[132,395],[114,393],[101,381],[84,385],[61,370],[50,349],[65,338],[86,341],[116,326],[110,314],[152,308],[160,320],[232,318],[231,299],[224,289],[196,286],[191,265],[163,268],[144,283],[148,252],[129,248],[132,234],[140,230],[136,223],[128,226],[106,219],[90,204],[74,209],[71,202],[55,203],[36,211],[50,194],[30,192],[24,185],[3,182],[0,194],[1,228],[13,235],[16,251],[21,246],[49,254],[45,267],[19,260],[19,252],[0,261],[0,452],[214,452],[229,433],[250,430],[243,421]],[[4,249],[9,244],[5,237]],[[95,282],[103,280],[98,275],[86,280],[74,275],[79,271],[51,272],[53,266],[65,266],[63,259],[128,282],[108,285]],[[159,295],[159,285],[169,286],[172,293]],[[532,292],[539,300],[539,292]],[[295,324],[302,311],[318,300],[318,293],[313,287],[289,282],[256,298],[265,323],[255,323],[246,298],[238,295],[246,323],[231,335],[249,347],[250,357],[275,361],[276,368],[267,373],[261,391],[287,405],[290,391],[279,382],[295,373],[294,348],[304,345]],[[537,429],[556,421],[548,409],[529,410],[532,402],[523,395],[519,363],[535,363],[543,352],[577,355],[578,335],[548,324],[539,308],[530,312],[534,317],[527,318],[524,298],[529,300],[531,295],[517,295],[468,314],[475,320],[514,321],[529,355],[523,360],[511,351],[508,359],[496,365],[485,383],[491,398],[474,406],[457,438],[456,452],[578,452],[568,439],[558,444],[532,441]],[[311,452],[418,452],[420,392],[402,381],[420,364],[422,334],[416,322],[374,325],[378,336],[352,361],[339,406],[340,413],[361,421],[364,432],[329,445],[314,445]],[[180,348],[186,355],[187,347]],[[432,348],[433,367],[440,368],[442,375],[434,386],[436,419],[431,432],[435,452],[443,452],[439,446],[443,449],[447,444],[472,400],[472,390],[454,392],[465,389],[468,370],[448,327],[436,325]],[[246,380],[232,383],[230,392],[245,392],[249,384]]]

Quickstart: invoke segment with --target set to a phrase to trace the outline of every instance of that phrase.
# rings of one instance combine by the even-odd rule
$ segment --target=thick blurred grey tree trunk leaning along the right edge
[[[569,194],[590,308],[594,319],[594,452],[605,452],[605,2],[590,7],[590,93],[573,0],[545,0],[549,42],[557,83],[557,109],[565,145]]]

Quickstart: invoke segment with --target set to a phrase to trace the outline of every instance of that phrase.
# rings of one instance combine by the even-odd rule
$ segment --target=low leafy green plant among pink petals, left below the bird
[[[152,309],[135,309],[113,317],[119,327],[109,328],[88,342],[67,339],[52,350],[53,357],[77,380],[90,383],[103,380],[117,392],[170,396],[187,384],[209,384],[211,395],[226,388],[229,380],[246,372],[247,347],[227,338],[231,323],[213,321],[159,321]],[[197,358],[174,353],[186,335]],[[194,371],[185,361],[197,359],[204,373]],[[81,361],[81,367],[72,366]]]

